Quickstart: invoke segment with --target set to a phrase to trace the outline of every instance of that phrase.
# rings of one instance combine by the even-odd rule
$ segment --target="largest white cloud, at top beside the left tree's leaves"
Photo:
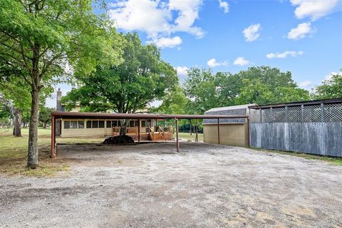
[[[202,28],[194,26],[199,18],[202,0],[123,0],[109,4],[108,15],[115,26],[125,31],[145,31],[153,42],[175,32],[204,36]]]

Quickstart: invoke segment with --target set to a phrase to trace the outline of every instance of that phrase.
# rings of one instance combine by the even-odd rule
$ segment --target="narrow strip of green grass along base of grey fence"
[[[308,155],[304,154],[302,152],[291,152],[291,151],[281,151],[281,150],[262,150],[259,148],[252,148],[254,150],[259,150],[262,152],[275,152],[277,154],[281,155],[290,155],[290,156],[296,156],[296,157],[303,157],[305,159],[309,160],[321,160],[324,162],[328,162],[331,165],[341,165],[342,166],[342,157],[328,157],[328,156],[322,156],[322,155]]]

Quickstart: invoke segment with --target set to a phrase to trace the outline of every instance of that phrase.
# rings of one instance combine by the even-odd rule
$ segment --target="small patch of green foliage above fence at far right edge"
[[[314,99],[342,98],[342,70],[330,80],[323,81],[321,86],[316,86],[311,96]]]

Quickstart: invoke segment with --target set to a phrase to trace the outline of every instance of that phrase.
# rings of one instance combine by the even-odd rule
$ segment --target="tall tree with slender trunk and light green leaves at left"
[[[44,86],[64,68],[87,75],[98,63],[120,61],[119,36],[93,14],[90,0],[1,0],[0,59],[16,69],[31,93],[27,166],[38,166],[38,107]]]

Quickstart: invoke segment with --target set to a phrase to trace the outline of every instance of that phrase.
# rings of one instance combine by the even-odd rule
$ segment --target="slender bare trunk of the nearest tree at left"
[[[28,154],[27,167],[35,169],[38,167],[38,108],[39,108],[39,90],[31,91],[31,118],[28,129]]]

